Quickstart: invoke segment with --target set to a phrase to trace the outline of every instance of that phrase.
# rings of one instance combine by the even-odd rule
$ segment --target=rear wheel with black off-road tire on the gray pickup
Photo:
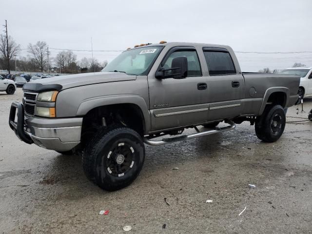
[[[254,129],[260,140],[274,142],[278,140],[285,129],[286,116],[282,106],[267,106],[262,116],[257,117]]]

